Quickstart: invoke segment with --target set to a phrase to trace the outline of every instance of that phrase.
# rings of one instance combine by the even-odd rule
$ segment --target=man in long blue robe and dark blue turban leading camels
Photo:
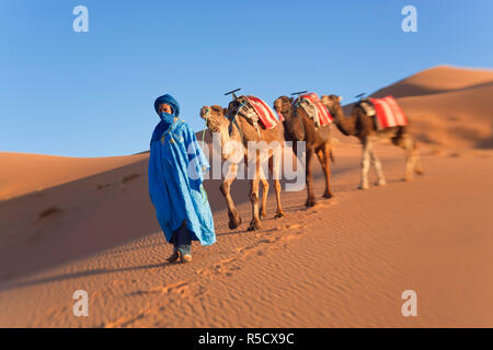
[[[207,158],[188,125],[179,119],[180,105],[169,94],[154,102],[161,118],[150,141],[149,196],[165,238],[173,244],[169,261],[192,261],[191,244],[216,242],[213,213],[204,189]]]

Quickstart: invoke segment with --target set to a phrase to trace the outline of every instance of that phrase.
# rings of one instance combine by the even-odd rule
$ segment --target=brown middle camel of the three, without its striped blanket
[[[298,156],[296,142],[306,142],[306,183],[308,198],[306,206],[313,207],[317,203],[316,197],[313,195],[313,175],[311,173],[311,160],[313,153],[317,154],[320,164],[322,165],[323,175],[325,176],[325,192],[324,198],[332,198],[333,194],[331,191],[330,178],[331,178],[331,160],[332,148],[330,125],[325,125],[321,128],[316,128],[313,120],[308,116],[301,106],[293,105],[293,97],[280,96],[274,102],[274,109],[282,114],[285,118],[285,137],[286,140],[293,141],[293,151],[295,155]]]

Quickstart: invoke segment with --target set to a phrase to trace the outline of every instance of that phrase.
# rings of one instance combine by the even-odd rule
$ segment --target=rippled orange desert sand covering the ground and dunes
[[[273,219],[271,189],[262,230],[246,232],[248,183],[233,183],[231,231],[206,180],[218,242],[194,243],[187,265],[165,262],[148,153],[0,153],[0,327],[493,327],[492,89],[491,71],[437,67],[376,92],[398,97],[421,141],[412,183],[381,142],[388,185],[357,190],[360,147],[334,132],[335,198],[317,167],[316,207],[284,191]],[[88,317],[72,314],[77,290]],[[416,317],[401,314],[405,290]]]

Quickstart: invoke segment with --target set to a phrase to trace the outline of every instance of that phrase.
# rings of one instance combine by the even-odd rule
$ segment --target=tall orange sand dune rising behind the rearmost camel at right
[[[493,148],[493,71],[435,67],[372,93],[392,95],[424,143],[449,149]],[[344,106],[351,114],[354,104]]]

